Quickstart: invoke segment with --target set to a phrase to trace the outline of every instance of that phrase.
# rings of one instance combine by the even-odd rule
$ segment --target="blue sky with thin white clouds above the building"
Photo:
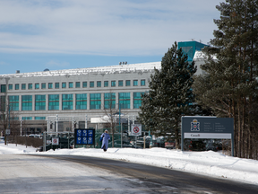
[[[222,0],[0,0],[0,75],[160,61],[206,44]]]

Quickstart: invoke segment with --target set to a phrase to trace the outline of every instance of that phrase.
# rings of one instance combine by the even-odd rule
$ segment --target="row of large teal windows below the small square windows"
[[[133,109],[142,105],[142,94],[133,93]],[[131,109],[131,93],[118,93],[118,103],[121,109]],[[46,104],[48,97],[48,104]],[[19,95],[8,96],[10,109],[19,110]],[[87,93],[75,94],[75,110],[87,110]],[[32,95],[22,95],[22,110],[32,110]],[[60,103],[59,94],[35,95],[35,110],[73,110],[73,94],[62,94]],[[116,108],[116,93],[104,93],[104,109]],[[90,110],[101,109],[101,93],[90,93]]]

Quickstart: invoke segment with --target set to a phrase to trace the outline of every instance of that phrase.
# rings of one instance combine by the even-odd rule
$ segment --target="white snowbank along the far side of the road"
[[[123,160],[132,163],[143,163],[185,172],[194,172],[213,177],[245,181],[258,184],[258,161],[231,157],[218,152],[182,152],[165,148],[133,149],[77,148],[36,152],[36,148],[25,145],[4,145],[0,142],[0,154],[73,154]]]

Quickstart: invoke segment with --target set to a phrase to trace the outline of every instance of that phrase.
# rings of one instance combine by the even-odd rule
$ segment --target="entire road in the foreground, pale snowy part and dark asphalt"
[[[88,156],[2,154],[0,193],[254,194],[258,185]]]

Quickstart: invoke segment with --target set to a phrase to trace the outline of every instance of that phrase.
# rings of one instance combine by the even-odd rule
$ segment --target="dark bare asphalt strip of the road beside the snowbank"
[[[189,172],[89,156],[41,156],[105,170],[105,172],[112,173],[112,175],[123,177],[121,179],[130,182],[131,187],[142,188],[142,193],[258,193],[258,185],[229,181],[225,178],[218,179]],[[125,193],[132,192],[126,192],[125,190]]]

